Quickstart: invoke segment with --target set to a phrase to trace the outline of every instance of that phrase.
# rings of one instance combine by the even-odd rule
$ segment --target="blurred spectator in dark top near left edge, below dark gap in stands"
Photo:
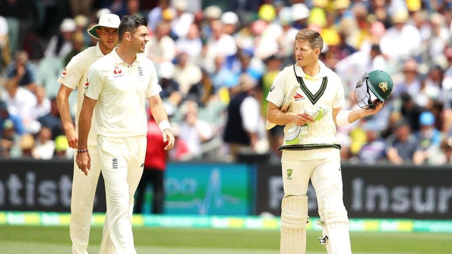
[[[34,90],[36,84],[36,66],[29,60],[28,53],[23,50],[16,52],[15,61],[7,67],[7,84],[21,86]]]

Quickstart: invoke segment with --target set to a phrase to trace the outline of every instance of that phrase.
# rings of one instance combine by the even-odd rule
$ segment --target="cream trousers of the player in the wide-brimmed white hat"
[[[100,175],[100,161],[97,147],[88,146],[91,169],[88,176],[75,163],[77,151],[74,149],[74,176],[72,178],[71,220],[69,234],[73,254],[87,254],[89,229],[91,226],[92,206]]]

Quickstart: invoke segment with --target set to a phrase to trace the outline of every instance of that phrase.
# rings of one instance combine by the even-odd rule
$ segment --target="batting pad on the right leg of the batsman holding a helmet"
[[[335,190],[323,198],[318,211],[323,237],[319,238],[328,254],[351,254],[349,218],[342,201],[342,191]]]

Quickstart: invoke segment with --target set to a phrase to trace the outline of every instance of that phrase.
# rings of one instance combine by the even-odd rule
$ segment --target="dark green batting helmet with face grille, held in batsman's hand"
[[[356,103],[364,109],[373,108],[378,101],[385,101],[389,98],[393,86],[391,76],[385,71],[366,72],[356,83]]]

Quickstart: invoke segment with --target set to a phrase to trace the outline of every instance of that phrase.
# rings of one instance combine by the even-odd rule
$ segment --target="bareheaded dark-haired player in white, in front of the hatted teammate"
[[[146,99],[159,123],[166,150],[174,146],[168,116],[159,92],[154,64],[143,53],[149,41],[147,21],[124,16],[119,26],[120,45],[97,60],[88,71],[79,119],[76,163],[90,170],[87,137],[95,111],[94,131],[105,181],[108,241],[105,253],[136,253],[132,232],[135,193],[146,153]],[[138,177],[137,177],[138,176]]]

